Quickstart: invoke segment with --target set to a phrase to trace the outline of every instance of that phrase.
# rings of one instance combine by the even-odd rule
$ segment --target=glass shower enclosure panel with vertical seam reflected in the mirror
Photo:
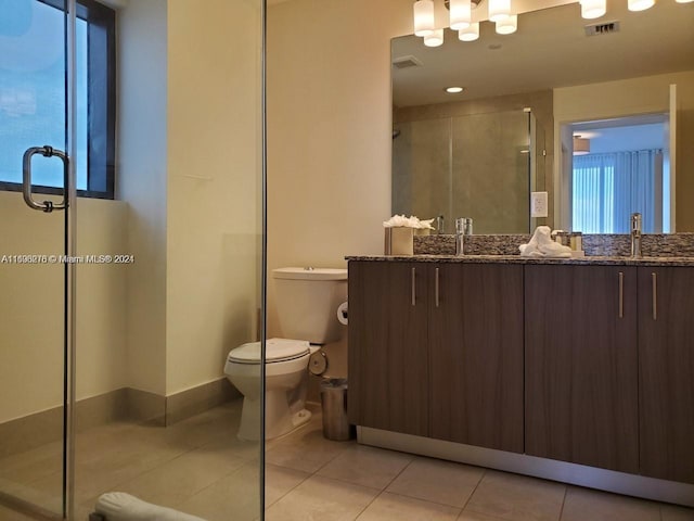
[[[532,115],[524,110],[397,122],[393,213],[472,217],[475,233],[528,233]],[[535,174],[543,176],[543,170]]]

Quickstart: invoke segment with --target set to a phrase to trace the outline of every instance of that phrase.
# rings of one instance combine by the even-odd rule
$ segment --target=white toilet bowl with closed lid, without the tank
[[[308,359],[318,346],[307,341],[269,339],[266,342],[266,439],[278,437],[311,419],[306,410]],[[231,350],[224,374],[243,394],[239,439],[260,439],[260,342]]]

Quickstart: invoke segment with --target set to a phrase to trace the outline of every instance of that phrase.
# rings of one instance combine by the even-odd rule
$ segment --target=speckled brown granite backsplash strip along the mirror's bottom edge
[[[466,236],[466,255],[518,255],[518,246],[530,234]],[[626,257],[631,251],[628,234],[584,234],[583,251],[588,256]],[[653,233],[642,236],[642,252],[646,257],[694,257],[694,233]],[[455,237],[415,236],[415,255],[454,255]]]

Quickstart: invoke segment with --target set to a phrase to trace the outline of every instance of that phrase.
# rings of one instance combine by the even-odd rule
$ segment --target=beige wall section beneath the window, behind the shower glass
[[[127,207],[82,200],[78,254],[126,251]],[[0,192],[0,256],[60,255],[64,213],[29,209]],[[113,391],[125,379],[126,266],[77,266],[77,397]],[[63,265],[0,264],[0,423],[59,406],[63,396]]]

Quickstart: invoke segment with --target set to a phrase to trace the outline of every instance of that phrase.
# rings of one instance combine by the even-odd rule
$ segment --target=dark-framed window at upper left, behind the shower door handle
[[[0,188],[22,189],[29,147],[65,150],[64,2],[23,0],[0,13]],[[77,1],[78,195],[113,199],[115,157],[115,12]],[[61,193],[60,161],[35,156],[34,191]]]

